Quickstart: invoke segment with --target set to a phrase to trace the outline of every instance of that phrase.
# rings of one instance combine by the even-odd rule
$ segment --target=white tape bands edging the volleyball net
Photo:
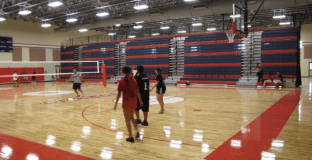
[[[96,63],[96,71],[93,72],[80,72],[81,74],[96,74],[101,73],[100,72],[100,65],[104,64],[103,61],[0,61],[0,68],[34,68],[34,67],[43,67],[45,68],[46,72],[46,66],[55,64],[61,66],[61,64],[64,63]],[[61,68],[61,67],[60,67]],[[71,66],[73,68],[73,66]],[[79,69],[79,68],[78,68]],[[61,71],[61,69],[60,69]],[[19,74],[17,73],[17,77],[26,77],[26,76],[55,76],[55,75],[71,75],[72,72],[69,73],[44,73],[44,74]],[[13,77],[13,73],[11,75],[1,75],[2,77]]]

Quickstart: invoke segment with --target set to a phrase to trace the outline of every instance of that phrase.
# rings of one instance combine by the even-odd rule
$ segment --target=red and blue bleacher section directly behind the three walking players
[[[126,64],[130,67],[144,66],[144,72],[155,79],[155,69],[162,69],[163,77],[169,74],[169,41],[171,38],[135,40],[127,43]]]

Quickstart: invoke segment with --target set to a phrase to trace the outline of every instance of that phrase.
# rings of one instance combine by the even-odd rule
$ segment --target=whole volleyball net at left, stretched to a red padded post
[[[14,79],[21,83],[66,82],[74,68],[81,73],[84,81],[103,82],[106,86],[104,61],[0,61],[0,83],[13,83]]]

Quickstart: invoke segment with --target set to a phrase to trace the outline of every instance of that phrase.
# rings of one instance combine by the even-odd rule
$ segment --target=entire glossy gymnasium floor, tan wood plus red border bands
[[[84,83],[87,99],[55,103],[74,97],[71,87],[0,86],[0,159],[312,159],[308,79],[301,90],[168,86],[165,114],[152,98],[133,144],[121,104],[112,110],[117,85]]]

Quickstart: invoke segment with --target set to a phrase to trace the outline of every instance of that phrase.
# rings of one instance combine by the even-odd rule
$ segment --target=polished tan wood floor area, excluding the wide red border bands
[[[312,81],[303,83],[299,105],[276,137],[282,146],[267,151],[276,159],[312,159]],[[75,97],[58,92],[42,95],[44,91],[71,91],[71,83],[11,87],[0,86],[0,133],[77,155],[114,160],[201,160],[293,90],[168,86],[165,96],[171,103],[165,104],[165,114],[157,114],[158,104],[151,105],[149,126],[139,126],[143,138],[132,144],[125,141],[121,105],[112,110],[115,95],[41,104]],[[104,88],[85,83],[83,90],[86,96],[116,93],[117,85]],[[29,92],[41,96],[23,95]],[[173,97],[185,101],[175,102]]]

